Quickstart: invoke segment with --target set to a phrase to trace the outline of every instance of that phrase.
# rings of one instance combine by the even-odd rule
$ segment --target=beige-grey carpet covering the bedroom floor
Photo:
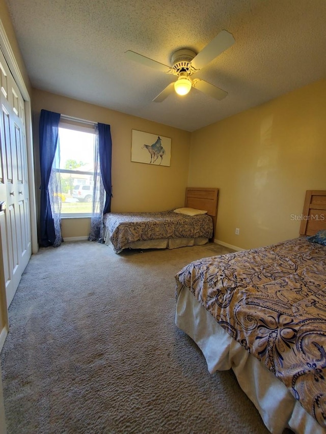
[[[40,249],[1,353],[8,433],[267,433],[232,371],[210,374],[174,324],[175,274],[227,251]]]

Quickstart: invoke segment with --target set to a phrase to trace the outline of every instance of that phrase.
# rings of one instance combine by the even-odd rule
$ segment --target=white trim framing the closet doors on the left
[[[4,53],[9,69],[16,81],[18,89],[23,97],[25,106],[25,124],[26,124],[26,149],[27,165],[29,177],[29,196],[30,196],[30,216],[31,216],[31,242],[32,253],[38,252],[37,239],[37,216],[36,216],[36,195],[35,195],[35,173],[34,173],[34,153],[33,153],[33,134],[32,134],[32,108],[31,97],[20,73],[14,52],[11,48],[5,28],[0,19],[0,46]]]

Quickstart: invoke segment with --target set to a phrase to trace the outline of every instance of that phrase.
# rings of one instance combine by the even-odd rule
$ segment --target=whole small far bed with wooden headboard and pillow
[[[185,208],[152,213],[108,213],[104,241],[116,253],[127,248],[176,248],[213,238],[217,188],[186,188]],[[195,215],[188,215],[190,213]]]

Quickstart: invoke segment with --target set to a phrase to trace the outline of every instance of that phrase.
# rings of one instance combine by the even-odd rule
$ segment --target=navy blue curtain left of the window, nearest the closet
[[[55,158],[59,136],[60,113],[41,110],[39,123],[41,204],[40,204],[40,246],[48,247],[55,243],[55,222],[52,217],[48,192],[53,159]]]

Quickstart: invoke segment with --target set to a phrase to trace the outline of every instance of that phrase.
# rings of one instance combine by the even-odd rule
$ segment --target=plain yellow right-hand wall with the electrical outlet
[[[215,239],[247,249],[298,236],[305,191],[326,189],[325,101],[320,80],[192,133],[188,185],[220,188]]]

